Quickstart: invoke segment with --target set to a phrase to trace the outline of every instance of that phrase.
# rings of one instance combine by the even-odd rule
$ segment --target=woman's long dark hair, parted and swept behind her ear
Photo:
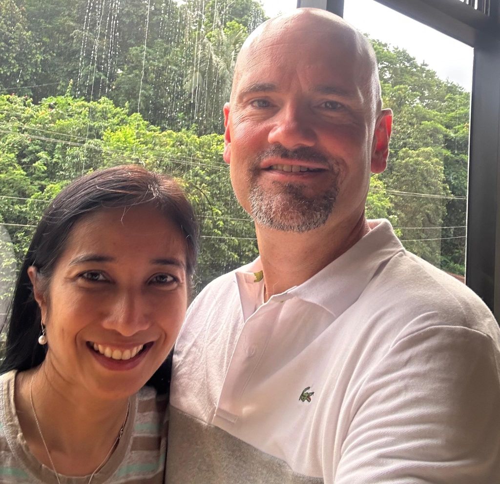
[[[0,374],[13,369],[33,368],[45,358],[45,347],[38,344],[41,315],[33,297],[28,267],[36,267],[42,287],[48,287],[75,222],[102,208],[142,204],[162,212],[185,236],[186,272],[191,280],[196,264],[198,225],[191,204],[171,177],[138,165],[115,166],[82,176],[61,190],[36,227],[2,328],[6,341]],[[156,375],[152,380],[157,381],[158,377]]]

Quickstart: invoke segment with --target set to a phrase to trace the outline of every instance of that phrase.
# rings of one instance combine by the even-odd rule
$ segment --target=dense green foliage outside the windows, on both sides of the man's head
[[[89,170],[140,163],[177,176],[196,205],[201,287],[257,253],[222,161],[220,113],[262,7],[99,4],[0,0],[1,278],[10,278],[31,226],[61,187]],[[469,95],[406,51],[373,45],[395,123],[389,168],[372,177],[367,215],[389,218],[406,247],[461,274]]]

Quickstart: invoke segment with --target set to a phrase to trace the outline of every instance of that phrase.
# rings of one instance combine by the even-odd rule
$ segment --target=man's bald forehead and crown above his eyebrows
[[[350,94],[351,83],[352,92],[372,84],[376,60],[366,38],[340,17],[302,10],[268,20],[250,35],[236,62],[232,95],[276,90],[294,77],[338,94]]]

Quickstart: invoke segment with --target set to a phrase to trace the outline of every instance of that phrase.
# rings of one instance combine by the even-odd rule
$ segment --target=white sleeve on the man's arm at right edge
[[[463,327],[393,344],[360,387],[333,482],[500,483],[499,361]]]

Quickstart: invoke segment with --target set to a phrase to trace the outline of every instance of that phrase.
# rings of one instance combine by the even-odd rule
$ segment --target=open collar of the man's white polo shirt
[[[339,316],[358,299],[380,265],[404,251],[388,220],[368,220],[368,225],[370,231],[340,257],[299,286],[272,297],[296,297]],[[262,284],[255,273],[261,269],[258,257],[235,271],[243,313],[253,312],[251,305]]]

